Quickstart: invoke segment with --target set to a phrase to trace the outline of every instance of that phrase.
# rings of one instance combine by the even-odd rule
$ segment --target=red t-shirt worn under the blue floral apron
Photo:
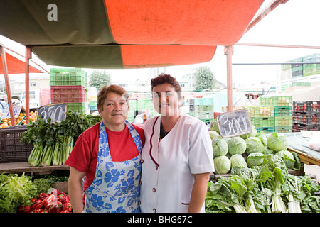
[[[144,145],[144,131],[134,126]],[[84,190],[89,187],[95,179],[97,167],[97,155],[99,150],[99,129],[100,123],[84,131],[75,142],[73,151],[70,153],[65,165],[74,167],[80,172],[85,172]],[[137,157],[139,151],[127,126],[123,131],[111,131],[106,128],[110,148],[110,155],[113,162],[123,162]]]

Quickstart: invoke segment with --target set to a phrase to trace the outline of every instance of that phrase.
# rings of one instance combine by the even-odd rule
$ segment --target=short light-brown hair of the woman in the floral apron
[[[107,95],[111,92],[124,96],[129,106],[128,92],[123,87],[112,84],[110,86],[105,85],[100,89],[99,93],[97,94],[97,109],[103,111],[103,103],[105,102],[105,99],[107,99]]]

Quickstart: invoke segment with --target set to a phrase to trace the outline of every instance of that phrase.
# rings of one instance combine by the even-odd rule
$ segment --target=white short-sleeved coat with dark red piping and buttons
[[[183,114],[159,142],[160,122],[159,116],[144,123],[140,208],[146,213],[184,213],[191,199],[193,174],[214,171],[208,127]]]

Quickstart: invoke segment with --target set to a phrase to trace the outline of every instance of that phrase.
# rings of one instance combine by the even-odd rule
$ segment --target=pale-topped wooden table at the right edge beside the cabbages
[[[320,152],[312,150],[308,147],[309,138],[304,138],[302,133],[281,133],[285,135],[289,141],[289,148],[297,153],[301,162],[306,165],[319,165],[320,166]]]

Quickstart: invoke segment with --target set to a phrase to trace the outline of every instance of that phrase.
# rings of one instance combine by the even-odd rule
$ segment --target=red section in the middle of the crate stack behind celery
[[[51,103],[85,102],[84,86],[51,86]]]

